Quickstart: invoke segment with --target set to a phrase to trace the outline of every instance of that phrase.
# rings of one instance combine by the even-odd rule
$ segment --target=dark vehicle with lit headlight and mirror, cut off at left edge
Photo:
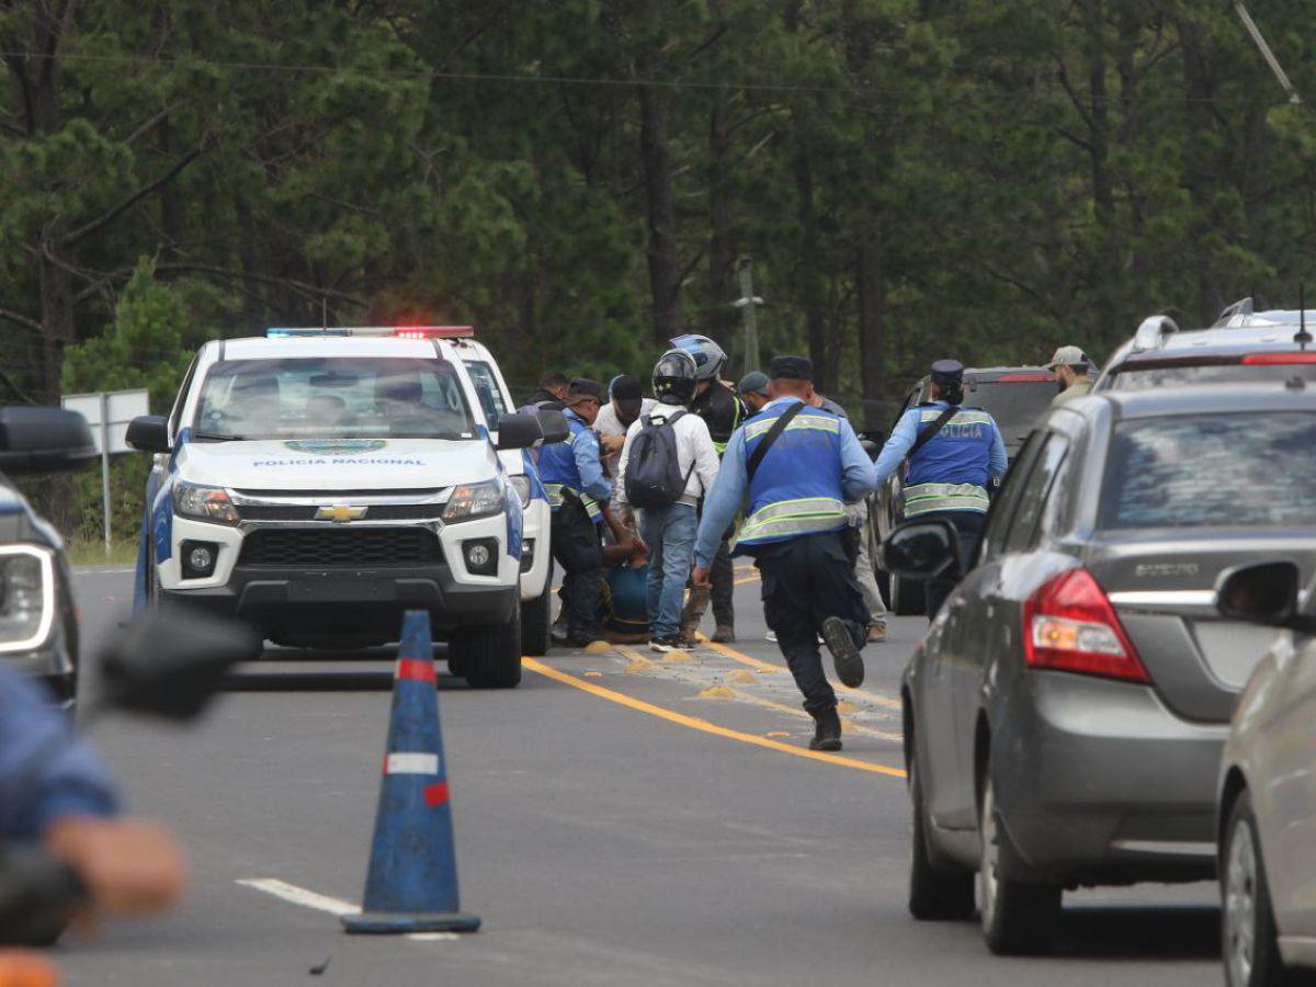
[[[64,546],[9,476],[75,470],[96,458],[87,421],[59,408],[0,408],[0,661],[72,708],[78,619]]]

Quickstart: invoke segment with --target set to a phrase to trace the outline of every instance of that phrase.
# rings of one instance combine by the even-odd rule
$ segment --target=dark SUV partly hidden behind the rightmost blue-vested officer
[[[929,400],[930,393],[930,378],[925,376],[909,388],[891,426],[895,428],[909,408]],[[965,405],[982,408],[996,420],[1011,461],[1055,393],[1055,380],[1045,367],[970,367],[965,371]],[[875,549],[904,520],[904,472],[903,467],[896,470],[869,499],[874,572],[887,605],[899,616],[924,612],[923,583],[887,574],[876,562],[879,553]]]

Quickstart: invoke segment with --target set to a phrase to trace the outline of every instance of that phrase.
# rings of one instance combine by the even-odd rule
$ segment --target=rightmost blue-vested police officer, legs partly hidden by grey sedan
[[[987,484],[1005,475],[1009,461],[995,420],[980,408],[965,408],[965,366],[955,359],[932,365],[932,400],[900,416],[882,454],[878,482],[909,461],[904,484],[905,520],[942,517],[959,532],[961,558],[978,551],[987,524]],[[926,434],[926,438],[920,438]],[[911,455],[913,450],[913,455]],[[925,584],[928,619],[941,609],[954,580]]]

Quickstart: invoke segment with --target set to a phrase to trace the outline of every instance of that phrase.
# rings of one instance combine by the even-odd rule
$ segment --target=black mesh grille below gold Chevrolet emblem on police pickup
[[[357,569],[424,566],[441,558],[425,528],[284,528],[251,532],[240,566]]]

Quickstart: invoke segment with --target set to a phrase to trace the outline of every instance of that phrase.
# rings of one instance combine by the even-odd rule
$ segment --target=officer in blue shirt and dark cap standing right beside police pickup
[[[603,404],[603,387],[576,378],[566,399],[570,437],[540,449],[540,479],[553,511],[553,559],[562,566],[567,608],[567,647],[603,640],[599,632],[599,580],[603,554],[599,525],[612,492],[599,461],[599,437],[590,430]]]

